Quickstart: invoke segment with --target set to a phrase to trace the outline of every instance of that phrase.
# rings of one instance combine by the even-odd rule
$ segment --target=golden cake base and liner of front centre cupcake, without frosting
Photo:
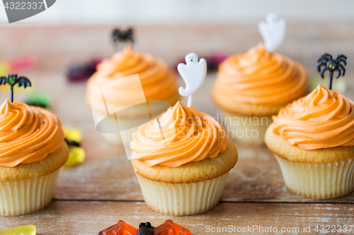
[[[148,167],[144,161],[134,159],[134,152],[132,159],[147,205],[166,215],[186,216],[206,212],[219,203],[238,155],[229,141],[225,152],[217,157],[176,168]]]

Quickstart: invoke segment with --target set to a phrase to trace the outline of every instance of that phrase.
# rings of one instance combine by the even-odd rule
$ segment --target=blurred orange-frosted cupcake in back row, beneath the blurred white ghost
[[[242,143],[263,144],[271,116],[302,97],[308,83],[304,66],[267,52],[260,44],[220,64],[212,99],[223,111],[229,136]]]

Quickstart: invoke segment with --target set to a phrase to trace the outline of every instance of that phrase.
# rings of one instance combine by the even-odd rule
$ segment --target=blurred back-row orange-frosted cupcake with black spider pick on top
[[[122,83],[114,83],[128,76],[132,77]],[[119,119],[122,126],[139,126],[149,112],[155,116],[166,110],[157,102],[150,102],[148,110],[142,105],[147,101],[164,100],[173,105],[179,97],[176,73],[163,60],[135,52],[129,44],[112,58],[98,64],[96,73],[88,80],[86,92],[86,101],[95,119],[103,120],[108,116],[110,123],[114,124],[115,119]],[[116,116],[110,115],[113,113]],[[110,143],[122,143],[119,132],[104,133],[103,136]]]

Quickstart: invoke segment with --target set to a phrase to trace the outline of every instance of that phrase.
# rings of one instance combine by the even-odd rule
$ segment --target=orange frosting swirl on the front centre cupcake
[[[149,167],[179,167],[217,157],[227,148],[227,135],[215,119],[180,102],[159,120],[140,126],[133,138],[133,158],[144,160]]]

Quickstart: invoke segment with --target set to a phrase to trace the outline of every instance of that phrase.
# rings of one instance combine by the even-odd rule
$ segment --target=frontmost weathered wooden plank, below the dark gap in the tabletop
[[[172,219],[193,234],[236,234],[207,232],[212,228],[229,226],[258,226],[253,233],[246,231],[243,234],[262,234],[260,227],[276,227],[278,231],[296,227],[299,228],[298,233],[291,230],[285,234],[304,234],[304,226],[310,226],[314,234],[317,225],[343,226],[353,225],[354,222],[353,205],[344,204],[220,203],[201,215],[171,217],[154,212],[144,203],[54,201],[44,210],[30,215],[1,217],[0,229],[33,224],[38,234],[97,234],[118,219],[135,227],[139,222],[149,221],[159,225],[166,219]]]

